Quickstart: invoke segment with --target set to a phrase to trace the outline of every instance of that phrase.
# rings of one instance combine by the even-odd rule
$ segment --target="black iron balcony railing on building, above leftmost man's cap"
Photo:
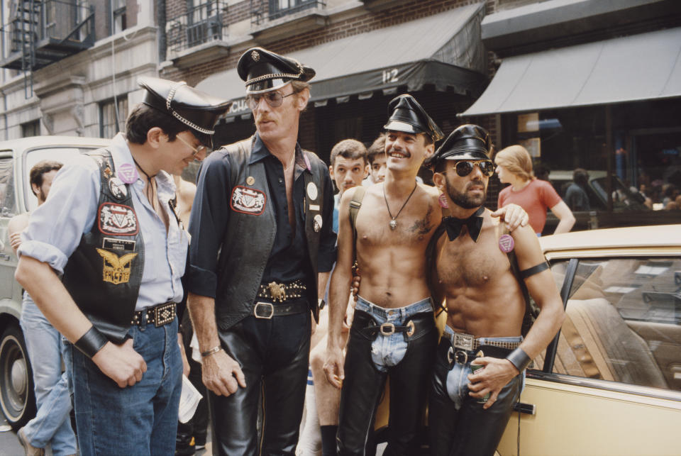
[[[168,49],[182,52],[210,41],[225,40],[223,20],[226,9],[225,0],[206,1],[170,19],[167,22]]]

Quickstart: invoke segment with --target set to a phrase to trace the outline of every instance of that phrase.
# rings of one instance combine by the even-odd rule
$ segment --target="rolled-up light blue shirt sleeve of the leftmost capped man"
[[[62,274],[83,233],[92,229],[98,202],[99,167],[91,158],[79,157],[60,169],[47,201],[31,213],[18,255],[45,262]]]

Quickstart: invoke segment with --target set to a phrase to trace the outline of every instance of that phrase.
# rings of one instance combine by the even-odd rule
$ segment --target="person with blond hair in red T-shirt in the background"
[[[511,184],[499,192],[500,208],[511,203],[524,208],[530,217],[530,225],[538,235],[541,235],[546,223],[546,209],[550,208],[559,220],[555,234],[570,231],[575,224],[575,216],[549,182],[534,177],[532,157],[523,146],[511,145],[499,151],[494,162],[499,181]]]

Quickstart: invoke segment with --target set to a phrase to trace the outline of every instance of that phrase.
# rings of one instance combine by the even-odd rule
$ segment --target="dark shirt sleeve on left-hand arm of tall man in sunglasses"
[[[187,291],[215,299],[218,253],[229,218],[230,167],[226,152],[213,152],[199,169],[196,196],[189,218]]]

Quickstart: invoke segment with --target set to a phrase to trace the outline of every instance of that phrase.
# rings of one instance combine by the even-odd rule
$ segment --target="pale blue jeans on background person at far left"
[[[71,397],[67,373],[62,373],[62,336],[40,312],[28,293],[23,294],[21,329],[33,368],[38,413],[23,428],[31,445],[52,445],[52,454],[74,455],[76,436],[71,428]]]

